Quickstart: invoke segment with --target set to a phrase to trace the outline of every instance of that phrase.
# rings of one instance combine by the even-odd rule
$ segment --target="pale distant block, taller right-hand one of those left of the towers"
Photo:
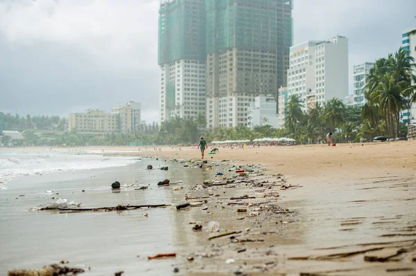
[[[123,134],[140,131],[141,104],[130,101],[112,107],[111,113],[116,116],[118,130]]]

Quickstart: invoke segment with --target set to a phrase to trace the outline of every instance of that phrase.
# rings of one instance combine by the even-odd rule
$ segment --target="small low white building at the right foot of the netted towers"
[[[248,108],[248,127],[271,125],[279,128],[279,116],[277,115],[277,103],[272,95],[258,95]]]

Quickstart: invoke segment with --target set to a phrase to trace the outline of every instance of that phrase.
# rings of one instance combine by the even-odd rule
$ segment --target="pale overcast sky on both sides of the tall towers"
[[[0,111],[67,116],[135,100],[144,120],[159,120],[158,6],[0,0]],[[415,0],[295,0],[295,44],[347,37],[352,80],[353,64],[399,48],[415,16]]]

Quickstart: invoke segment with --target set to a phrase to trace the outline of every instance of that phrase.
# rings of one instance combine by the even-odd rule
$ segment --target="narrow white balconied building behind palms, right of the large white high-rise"
[[[353,72],[353,107],[363,107],[367,100],[364,97],[365,84],[367,84],[367,75],[370,74],[370,69],[374,67],[374,62],[365,62],[363,64],[354,65]]]

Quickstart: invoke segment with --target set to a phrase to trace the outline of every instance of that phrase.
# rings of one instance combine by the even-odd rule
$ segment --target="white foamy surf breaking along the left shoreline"
[[[114,152],[116,151],[1,149],[0,189],[6,189],[7,183],[19,176],[120,167],[137,162],[135,157],[105,156]]]

